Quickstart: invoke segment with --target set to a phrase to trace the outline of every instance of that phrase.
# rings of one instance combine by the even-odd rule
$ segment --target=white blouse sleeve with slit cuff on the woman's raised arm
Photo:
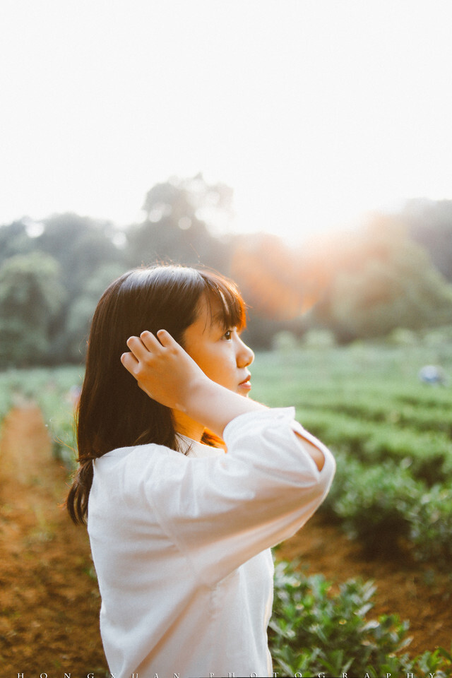
[[[326,496],[335,461],[294,415],[294,408],[240,415],[225,429],[227,454],[172,456],[170,477],[156,469],[158,482],[152,473],[146,483],[162,528],[206,583],[293,535]],[[322,451],[321,471],[295,432]]]

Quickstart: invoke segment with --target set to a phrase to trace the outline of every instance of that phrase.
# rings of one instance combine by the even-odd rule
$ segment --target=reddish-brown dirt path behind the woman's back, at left
[[[0,675],[105,675],[88,539],[61,508],[66,470],[40,410],[13,410],[1,433]]]

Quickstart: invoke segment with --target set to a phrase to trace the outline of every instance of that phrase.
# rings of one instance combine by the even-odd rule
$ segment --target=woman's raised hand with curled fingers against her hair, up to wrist
[[[166,330],[145,331],[127,340],[124,367],[145,393],[174,410],[186,412],[191,393],[210,381],[182,346]]]

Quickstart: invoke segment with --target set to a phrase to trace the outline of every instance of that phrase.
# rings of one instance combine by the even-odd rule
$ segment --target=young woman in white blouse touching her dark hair
[[[174,266],[122,275],[95,311],[67,505],[88,516],[115,678],[272,675],[270,547],[335,463],[293,408],[246,397],[244,326],[233,283]]]

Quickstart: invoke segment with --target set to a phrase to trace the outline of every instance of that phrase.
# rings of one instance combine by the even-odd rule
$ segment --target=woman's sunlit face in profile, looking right
[[[206,297],[201,297],[196,321],[184,332],[184,349],[209,379],[241,396],[249,395],[251,382],[246,368],[253,362],[254,353],[243,343],[237,328],[225,331],[219,302],[208,304]]]

